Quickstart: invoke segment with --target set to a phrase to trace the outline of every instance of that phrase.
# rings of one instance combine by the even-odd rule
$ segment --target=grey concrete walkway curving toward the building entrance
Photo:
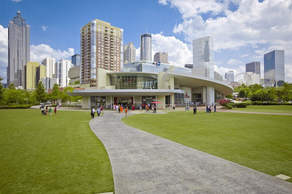
[[[89,124],[109,154],[115,194],[292,193],[289,182],[130,127],[121,122],[124,114],[107,113]]]

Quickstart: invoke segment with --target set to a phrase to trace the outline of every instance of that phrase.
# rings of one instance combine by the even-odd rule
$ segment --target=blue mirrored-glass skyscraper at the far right
[[[264,54],[265,84],[282,86],[285,82],[284,50],[273,50]]]

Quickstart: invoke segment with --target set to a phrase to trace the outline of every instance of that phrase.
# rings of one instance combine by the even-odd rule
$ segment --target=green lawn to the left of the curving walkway
[[[84,122],[89,112],[0,110],[0,118],[0,193],[114,191],[105,147]]]

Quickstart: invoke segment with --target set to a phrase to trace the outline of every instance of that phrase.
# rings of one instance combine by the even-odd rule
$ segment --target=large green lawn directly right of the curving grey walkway
[[[292,177],[292,116],[177,111],[135,114],[122,121],[272,176]]]

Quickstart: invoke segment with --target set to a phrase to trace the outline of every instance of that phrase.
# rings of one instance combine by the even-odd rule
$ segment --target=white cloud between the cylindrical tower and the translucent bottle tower
[[[152,34],[152,60],[156,52],[168,52],[168,62],[176,66],[183,67],[193,63],[192,51],[186,43],[174,36]]]

